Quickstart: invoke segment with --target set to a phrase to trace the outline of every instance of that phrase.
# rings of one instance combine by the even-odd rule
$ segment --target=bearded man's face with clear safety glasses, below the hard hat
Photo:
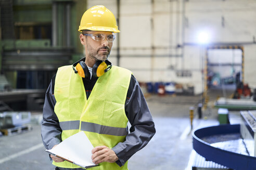
[[[87,34],[93,34],[93,35],[104,34],[107,36],[109,34],[112,34],[112,32],[88,31]],[[107,40],[107,37],[102,41],[96,41],[92,37],[86,36],[85,41],[86,41],[85,50],[87,49],[86,57],[94,60],[103,60],[103,61],[108,59],[113,43],[110,43]]]

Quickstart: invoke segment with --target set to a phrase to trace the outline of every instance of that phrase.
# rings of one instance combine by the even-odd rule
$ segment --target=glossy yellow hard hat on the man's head
[[[103,5],[93,6],[84,12],[78,31],[82,30],[120,32],[113,13]]]

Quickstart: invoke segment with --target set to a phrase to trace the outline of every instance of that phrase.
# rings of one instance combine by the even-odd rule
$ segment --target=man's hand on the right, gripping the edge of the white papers
[[[114,151],[106,146],[97,146],[92,150],[92,160],[95,164],[101,162],[116,162],[118,157]]]

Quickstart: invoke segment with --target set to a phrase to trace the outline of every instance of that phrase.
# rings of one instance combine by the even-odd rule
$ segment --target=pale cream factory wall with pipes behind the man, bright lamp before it
[[[117,16],[117,1],[87,1],[105,5]],[[120,1],[120,66],[139,81],[176,82],[203,90],[204,56],[210,45],[241,45],[245,49],[245,82],[256,87],[256,2],[215,0]],[[200,44],[206,32],[209,44]],[[117,64],[116,45],[109,58]]]

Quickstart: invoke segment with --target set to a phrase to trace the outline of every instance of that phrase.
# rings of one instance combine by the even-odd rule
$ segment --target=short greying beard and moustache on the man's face
[[[106,53],[102,53],[99,54],[99,50],[101,49],[106,49],[108,50],[108,52]],[[105,61],[108,59],[108,56],[110,54],[110,48],[107,46],[103,46],[97,50],[93,49],[92,46],[90,46],[89,44],[87,44],[87,51],[88,51],[88,57],[91,59],[95,59],[95,60],[101,60],[101,61]],[[87,56],[86,56],[87,57]]]

